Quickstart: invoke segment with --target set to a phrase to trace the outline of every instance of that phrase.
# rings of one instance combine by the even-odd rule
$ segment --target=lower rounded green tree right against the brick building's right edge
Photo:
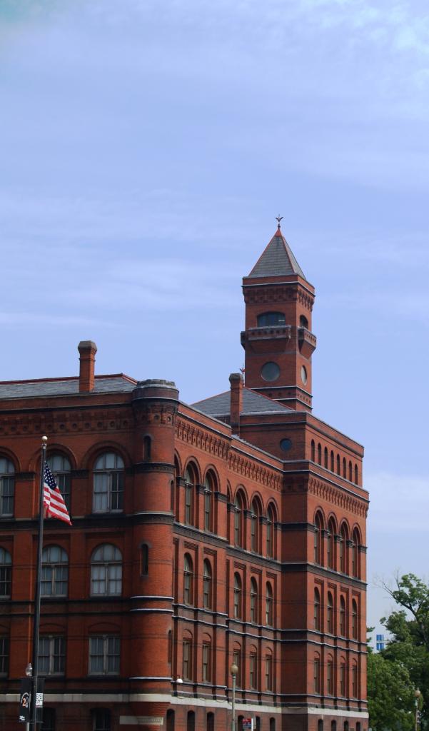
[[[414,728],[414,686],[400,660],[368,654],[368,712],[374,731]]]

